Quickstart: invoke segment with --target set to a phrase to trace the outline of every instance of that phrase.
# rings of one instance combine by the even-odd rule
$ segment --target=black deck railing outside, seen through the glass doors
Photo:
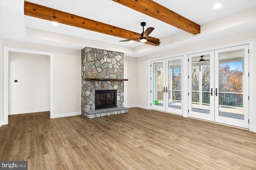
[[[157,91],[157,100],[164,101],[162,90]],[[181,101],[181,90],[168,90],[168,101]],[[202,91],[202,101],[199,99],[199,91],[192,91],[192,103],[210,104],[210,91]],[[243,107],[243,93],[219,92],[219,105],[230,107]]]

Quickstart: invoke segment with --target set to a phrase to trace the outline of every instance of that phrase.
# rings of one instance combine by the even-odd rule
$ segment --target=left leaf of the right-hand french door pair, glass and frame
[[[190,117],[214,121],[214,51],[189,55]]]

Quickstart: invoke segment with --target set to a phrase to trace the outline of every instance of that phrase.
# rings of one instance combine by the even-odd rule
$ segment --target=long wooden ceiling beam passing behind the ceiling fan
[[[69,26],[74,26],[78,28],[83,28],[86,30],[99,32],[102,34],[108,34],[110,36],[120,37],[124,39],[140,38],[140,33],[125,30],[123,28],[118,28],[111,26],[109,24],[104,24],[102,22],[90,20],[82,16],[77,16],[39,4],[34,4],[32,2],[24,1],[24,14],[27,16],[32,16],[48,21],[58,22],[61,24],[66,24]],[[159,39],[148,37],[152,40],[158,41]],[[137,40],[136,42],[140,42]],[[146,44],[157,46],[157,44],[145,42]]]

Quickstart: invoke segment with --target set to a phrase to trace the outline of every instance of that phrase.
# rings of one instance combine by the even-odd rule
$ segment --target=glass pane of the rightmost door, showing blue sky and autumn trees
[[[219,53],[219,115],[244,120],[244,49]]]

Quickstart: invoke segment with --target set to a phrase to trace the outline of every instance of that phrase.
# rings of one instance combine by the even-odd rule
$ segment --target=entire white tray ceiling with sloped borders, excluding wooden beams
[[[202,41],[238,34],[256,29],[256,0],[157,0],[162,4],[201,25],[201,33],[192,35],[164,22],[141,14],[111,0],[29,0],[92,20],[127,30],[142,32],[140,22],[154,27],[150,34],[159,38],[157,47],[143,43],[119,42],[121,38],[108,36],[72,26],[24,16],[23,0],[0,0],[0,37],[23,42],[39,43],[72,49],[94,47],[120,51],[126,56],[161,55],[161,52]],[[216,3],[222,8],[213,10]]]

